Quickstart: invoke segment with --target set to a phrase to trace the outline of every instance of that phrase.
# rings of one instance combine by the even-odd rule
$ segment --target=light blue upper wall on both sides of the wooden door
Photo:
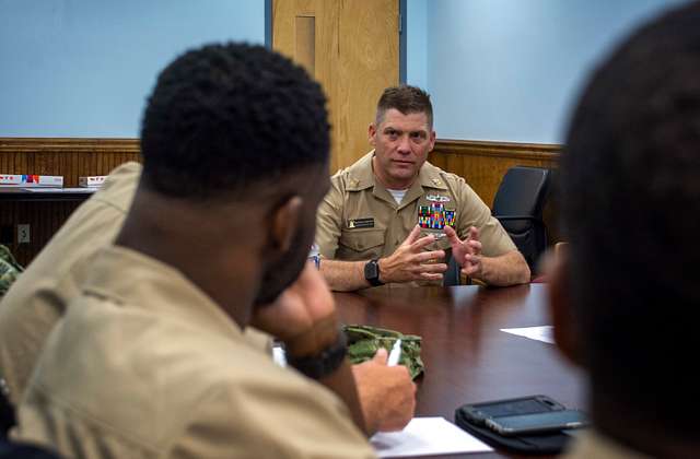
[[[560,142],[591,66],[682,0],[407,0],[407,82],[440,138]],[[264,0],[0,0],[0,137],[137,137],[158,71],[265,40]]]

